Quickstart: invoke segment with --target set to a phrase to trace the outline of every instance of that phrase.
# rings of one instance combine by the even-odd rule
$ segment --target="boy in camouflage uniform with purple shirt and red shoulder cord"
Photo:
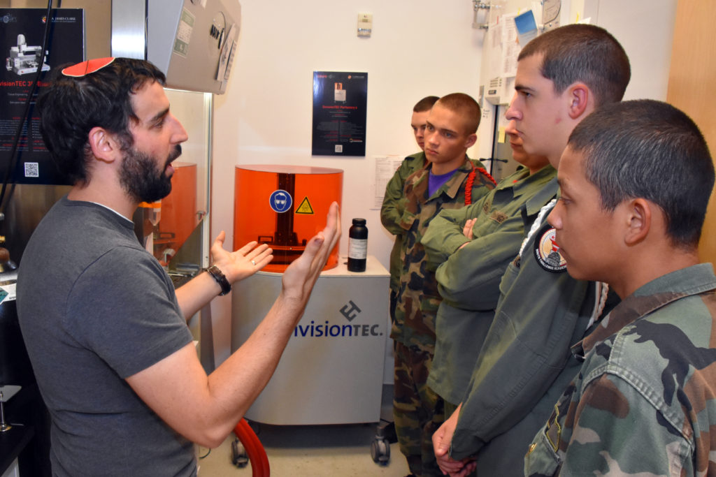
[[[431,436],[442,422],[442,403],[425,380],[435,350],[440,304],[435,271],[428,270],[420,239],[440,210],[463,207],[494,187],[466,152],[475,144],[480,107],[467,94],[448,94],[430,109],[425,127],[427,164],[405,182],[400,285],[390,337],[395,340],[393,414],[400,451],[415,476],[441,476]]]

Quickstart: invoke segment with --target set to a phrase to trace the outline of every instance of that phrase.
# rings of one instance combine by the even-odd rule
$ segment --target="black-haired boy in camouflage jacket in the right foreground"
[[[548,217],[569,275],[622,301],[572,347],[583,361],[525,458],[528,476],[716,473],[716,277],[697,246],[714,185],[686,114],[611,104],[571,134]]]

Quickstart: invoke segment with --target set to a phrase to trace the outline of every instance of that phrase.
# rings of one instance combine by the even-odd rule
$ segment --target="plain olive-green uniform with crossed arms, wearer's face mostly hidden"
[[[534,174],[520,169],[473,205],[440,212],[427,227],[422,245],[428,260],[442,262],[435,272],[442,303],[435,319],[437,342],[427,385],[448,403],[463,400],[495,315],[500,278],[542,205],[538,192],[556,181],[556,173],[551,165]],[[533,202],[537,207],[531,207]],[[534,212],[525,221],[528,209]],[[477,218],[473,240],[463,235],[470,218]]]

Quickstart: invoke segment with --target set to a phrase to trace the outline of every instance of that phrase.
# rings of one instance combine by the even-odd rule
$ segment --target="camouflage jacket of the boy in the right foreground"
[[[574,345],[584,363],[530,446],[525,474],[714,475],[715,289],[710,263],[669,273]]]

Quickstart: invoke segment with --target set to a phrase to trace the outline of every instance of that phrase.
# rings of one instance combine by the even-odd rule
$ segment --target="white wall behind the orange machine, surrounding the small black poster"
[[[387,267],[392,236],[369,209],[372,157],[417,151],[410,115],[418,99],[452,92],[477,99],[484,32],[472,29],[473,2],[241,0],[241,9],[231,80],[215,99],[212,235],[226,230],[233,242],[236,164],[337,167],[344,169],[340,252],[352,217],[365,217],[368,252]],[[359,13],[373,14],[370,38],[357,37]],[[314,71],[368,73],[366,157],[311,157]],[[230,352],[230,305],[213,303],[217,365]]]

